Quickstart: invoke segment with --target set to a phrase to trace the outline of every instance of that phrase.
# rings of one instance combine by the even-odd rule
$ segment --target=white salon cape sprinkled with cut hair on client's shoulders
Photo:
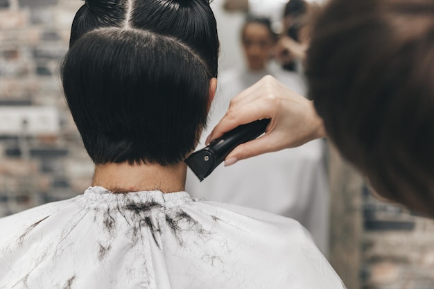
[[[2,289],[340,289],[295,220],[186,192],[76,198],[0,219]]]

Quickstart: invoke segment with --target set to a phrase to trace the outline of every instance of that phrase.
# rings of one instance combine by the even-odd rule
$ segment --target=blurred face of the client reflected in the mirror
[[[275,43],[270,29],[266,25],[252,22],[245,25],[241,36],[249,69],[265,69]]]

